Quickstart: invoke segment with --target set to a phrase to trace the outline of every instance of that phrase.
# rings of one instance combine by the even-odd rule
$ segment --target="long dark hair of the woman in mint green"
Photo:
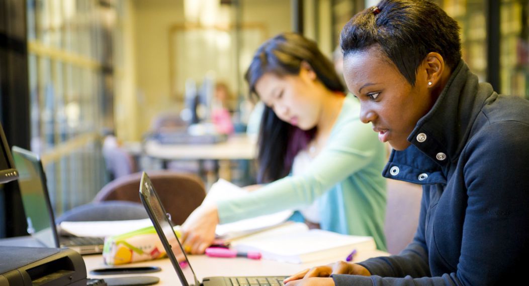
[[[297,75],[302,62],[311,66],[327,89],[344,91],[334,65],[314,41],[296,33],[281,33],[263,43],[254,54],[245,74],[250,95],[259,97],[256,83],[263,74]],[[315,132],[316,128],[304,131],[292,126],[279,119],[271,108],[265,107],[259,129],[258,183],[273,182],[288,175],[294,157],[314,138]]]

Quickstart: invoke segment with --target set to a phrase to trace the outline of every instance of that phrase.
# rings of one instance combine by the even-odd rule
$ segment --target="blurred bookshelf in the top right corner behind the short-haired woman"
[[[480,81],[487,74],[487,53],[499,47],[499,93],[529,99],[529,0],[500,0],[499,11],[487,11],[487,0],[440,0],[438,4],[461,27],[463,60]],[[487,34],[488,15],[499,14],[499,35]],[[498,15],[496,14],[496,15]],[[499,41],[487,43],[497,36]]]

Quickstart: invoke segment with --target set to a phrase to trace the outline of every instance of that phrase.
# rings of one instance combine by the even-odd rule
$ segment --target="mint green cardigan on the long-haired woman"
[[[248,196],[218,203],[220,223],[299,209],[319,200],[323,230],[373,236],[386,250],[384,218],[386,151],[371,125],[360,121],[360,103],[346,96],[326,146],[303,176],[276,180]]]

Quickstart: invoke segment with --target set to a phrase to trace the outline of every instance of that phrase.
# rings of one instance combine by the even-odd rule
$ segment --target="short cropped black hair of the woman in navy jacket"
[[[451,70],[461,60],[457,22],[428,0],[382,0],[353,16],[340,37],[344,57],[373,45],[412,85],[428,53],[439,53]]]

